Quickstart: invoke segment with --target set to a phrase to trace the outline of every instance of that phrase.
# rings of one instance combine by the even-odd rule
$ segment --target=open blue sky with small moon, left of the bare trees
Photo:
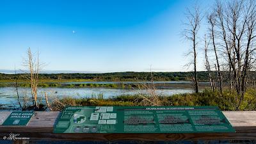
[[[202,10],[213,1],[197,1]],[[24,69],[28,47],[44,70],[188,71],[180,36],[193,0],[0,1],[0,69]],[[204,24],[205,22],[203,22]],[[202,27],[204,29],[204,27]],[[203,56],[199,58],[204,70]]]

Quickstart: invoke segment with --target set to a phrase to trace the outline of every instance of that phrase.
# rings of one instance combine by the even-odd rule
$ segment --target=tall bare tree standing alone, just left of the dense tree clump
[[[186,19],[188,22],[184,23],[186,28],[183,31],[184,38],[192,43],[192,49],[193,51],[191,54],[193,54],[193,66],[194,66],[194,75],[193,81],[194,81],[194,88],[195,92],[198,93],[198,78],[197,78],[197,69],[196,69],[196,57],[197,57],[197,46],[198,46],[198,31],[200,28],[200,22],[202,20],[201,14],[200,14],[200,8],[195,5],[193,10],[187,9],[186,13]]]

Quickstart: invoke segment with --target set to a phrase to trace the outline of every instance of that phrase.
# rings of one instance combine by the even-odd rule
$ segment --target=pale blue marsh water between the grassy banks
[[[83,84],[83,83],[96,83],[96,84],[134,84],[134,82],[67,82],[61,84]],[[140,82],[150,83],[150,82]],[[191,93],[193,86],[189,81],[157,81],[156,93],[161,95],[171,96],[177,93]],[[201,86],[207,83],[200,83]],[[30,88],[19,87],[19,97],[31,95]],[[118,95],[135,95],[138,93],[148,93],[147,90],[140,90],[136,88],[38,88],[38,96],[44,101],[44,93],[48,97],[74,97],[74,98],[111,98]],[[16,88],[12,86],[0,87],[0,108],[15,108],[18,105]]]

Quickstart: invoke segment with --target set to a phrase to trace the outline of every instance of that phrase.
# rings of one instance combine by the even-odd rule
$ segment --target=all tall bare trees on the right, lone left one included
[[[238,110],[250,82],[255,85],[256,1],[216,1],[206,13],[195,5],[187,10],[186,18],[184,38],[191,44],[195,92],[198,93],[197,56],[200,45],[204,45],[211,90],[218,90],[221,95],[223,81],[228,83],[230,92],[236,93]],[[207,27],[204,38],[199,32],[202,24]]]

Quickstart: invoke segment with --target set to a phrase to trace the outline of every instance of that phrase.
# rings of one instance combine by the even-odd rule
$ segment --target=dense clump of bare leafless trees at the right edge
[[[212,15],[214,17],[208,18],[211,23],[212,42],[214,34],[218,35],[214,41],[218,41],[218,47],[223,48],[223,55],[227,57],[230,90],[234,83],[237,93],[236,109],[239,109],[248,85],[248,72],[254,63],[256,4],[252,0],[217,1]],[[216,44],[213,46],[218,61]],[[220,63],[218,63],[218,77],[221,82]]]

